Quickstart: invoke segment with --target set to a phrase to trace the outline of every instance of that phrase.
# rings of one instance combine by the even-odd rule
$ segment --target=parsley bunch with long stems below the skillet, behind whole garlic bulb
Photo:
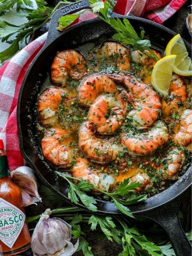
[[[48,198],[48,197],[47,197]],[[150,227],[150,220],[146,218],[128,219],[122,216],[109,217],[101,215],[91,215],[90,213],[81,214],[74,211],[82,211],[76,206],[65,206],[52,210],[51,217],[59,217],[69,222],[71,225],[70,232],[72,238],[79,238],[79,247],[77,251],[82,250],[85,256],[93,256],[91,246],[86,240],[86,231],[88,225],[92,231],[101,229],[104,237],[112,242],[122,245],[122,252],[119,256],[175,256],[174,250],[168,242],[165,231],[158,225]],[[40,214],[32,217],[27,217],[28,224],[37,223]],[[142,220],[141,230],[135,227]],[[86,224],[86,226],[85,226]],[[140,226],[140,225],[138,225]],[[34,229],[34,228],[33,228]],[[101,239],[102,233],[99,233]],[[146,233],[144,235],[143,233]],[[157,235],[159,234],[159,235]],[[186,233],[187,238],[191,241],[191,231]]]

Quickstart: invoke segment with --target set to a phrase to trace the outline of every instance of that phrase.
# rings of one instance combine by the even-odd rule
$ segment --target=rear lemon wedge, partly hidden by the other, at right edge
[[[165,49],[165,56],[176,55],[173,71],[181,76],[191,76],[191,59],[180,34],[174,36]]]

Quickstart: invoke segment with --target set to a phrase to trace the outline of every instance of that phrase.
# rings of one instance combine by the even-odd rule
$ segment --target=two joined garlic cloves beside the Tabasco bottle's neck
[[[38,194],[37,179],[30,167],[18,167],[11,172],[11,177],[14,179],[14,183],[21,189],[24,206],[41,201],[41,197]]]

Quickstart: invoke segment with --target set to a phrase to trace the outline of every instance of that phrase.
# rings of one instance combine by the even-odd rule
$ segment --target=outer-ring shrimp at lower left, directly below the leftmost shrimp
[[[41,140],[44,157],[52,164],[67,167],[73,160],[73,147],[69,143],[73,137],[68,130],[55,127],[45,132]]]

